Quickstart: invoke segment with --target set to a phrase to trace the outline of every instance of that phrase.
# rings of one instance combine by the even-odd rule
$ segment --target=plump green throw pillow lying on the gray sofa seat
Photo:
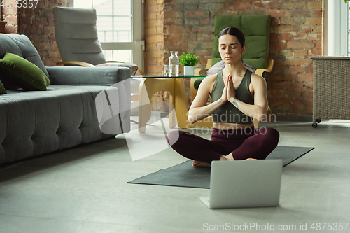
[[[0,59],[0,68],[6,73],[6,78],[24,90],[46,90],[50,80],[45,73],[27,59],[12,53],[6,53]]]

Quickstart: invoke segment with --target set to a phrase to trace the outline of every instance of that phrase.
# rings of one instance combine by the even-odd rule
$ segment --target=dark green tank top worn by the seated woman
[[[249,84],[251,83],[251,71],[248,69],[244,74],[241,84],[237,87],[236,98],[246,104],[254,104],[254,99],[249,91]],[[216,76],[213,91],[211,92],[211,103],[217,101],[221,98],[223,94],[223,88],[225,87],[223,83],[223,71],[220,71]],[[248,125],[253,123],[253,118],[242,113],[233,104],[227,101],[220,108],[218,108],[212,114],[213,122],[224,122],[224,123],[235,123]]]

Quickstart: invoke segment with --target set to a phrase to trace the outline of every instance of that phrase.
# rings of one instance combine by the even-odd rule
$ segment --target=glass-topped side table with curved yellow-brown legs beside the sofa
[[[139,132],[146,132],[146,123],[151,119],[151,98],[153,94],[160,91],[171,93],[169,97],[169,127],[177,125],[180,128],[188,129],[193,127],[213,127],[211,120],[200,120],[194,124],[188,122],[188,98],[183,78],[204,78],[206,76],[132,76],[142,78],[139,85]]]

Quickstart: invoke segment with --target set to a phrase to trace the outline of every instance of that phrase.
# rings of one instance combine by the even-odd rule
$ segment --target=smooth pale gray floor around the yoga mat
[[[317,129],[311,122],[263,125],[279,130],[279,146],[315,149],[283,168],[279,207],[225,210],[210,210],[200,202],[209,195],[207,189],[127,184],[185,161],[171,148],[160,151],[164,132],[153,133],[162,129],[159,124],[148,126],[146,136],[134,130],[1,165],[0,232],[210,232],[216,227],[234,232],[245,226],[245,232],[283,232],[278,227],[350,232],[350,226],[322,230],[322,223],[350,223],[349,121],[321,122]],[[210,137],[202,130],[197,134]],[[313,223],[321,223],[321,230],[312,230]],[[300,230],[305,224],[307,231]],[[253,225],[261,230],[249,228]]]

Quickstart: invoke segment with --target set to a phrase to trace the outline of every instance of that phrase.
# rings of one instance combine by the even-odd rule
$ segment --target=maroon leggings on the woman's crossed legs
[[[180,130],[174,130],[168,135],[169,145],[180,155],[209,163],[232,151],[235,160],[249,157],[265,160],[278,142],[279,132],[273,128],[262,128],[258,131],[254,127],[229,130],[214,128],[211,140]]]

